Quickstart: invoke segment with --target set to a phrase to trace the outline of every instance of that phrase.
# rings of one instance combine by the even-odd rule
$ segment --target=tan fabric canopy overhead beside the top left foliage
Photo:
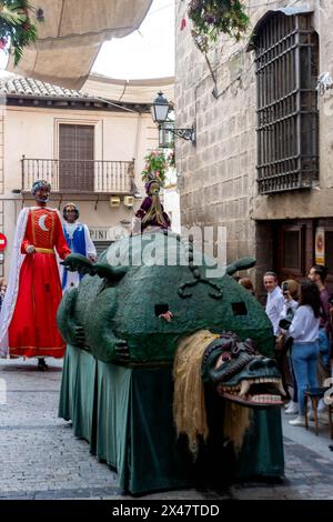
[[[105,40],[138,29],[152,0],[32,0],[44,12],[37,22],[38,40],[24,49],[9,71],[80,89]]]

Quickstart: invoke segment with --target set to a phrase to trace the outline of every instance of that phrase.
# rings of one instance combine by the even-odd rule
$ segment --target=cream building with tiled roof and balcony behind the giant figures
[[[130,232],[144,197],[144,157],[159,147],[150,104],[161,88],[172,91],[173,78],[138,81],[129,93],[131,101],[124,96],[119,101],[111,98],[114,84],[107,79],[101,97],[2,74],[0,233],[7,247],[0,248],[0,277],[9,273],[18,214],[34,204],[30,189],[36,179],[51,182],[50,205],[60,212],[70,201],[78,204],[98,253]]]

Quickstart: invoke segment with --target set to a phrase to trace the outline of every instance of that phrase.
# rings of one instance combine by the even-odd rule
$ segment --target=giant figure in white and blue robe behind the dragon
[[[90,238],[90,233],[87,224],[78,221],[80,215],[79,209],[74,203],[68,203],[63,208],[63,233],[72,253],[80,253],[94,262],[97,258],[97,251],[94,244]],[[78,287],[82,274],[78,272],[69,272],[68,270],[61,270],[61,285],[62,291]]]

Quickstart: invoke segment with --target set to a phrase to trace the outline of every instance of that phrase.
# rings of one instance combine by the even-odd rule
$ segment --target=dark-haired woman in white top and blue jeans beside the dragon
[[[311,281],[301,283],[300,303],[289,329],[293,338],[292,364],[299,389],[300,415],[290,421],[292,425],[304,425],[304,392],[316,388],[316,362],[319,358],[319,327],[321,298],[317,285]]]

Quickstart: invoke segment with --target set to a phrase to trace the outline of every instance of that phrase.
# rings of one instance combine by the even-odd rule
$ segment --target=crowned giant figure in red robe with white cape
[[[62,358],[65,343],[56,323],[62,298],[56,251],[64,259],[65,242],[59,212],[47,207],[51,187],[39,180],[32,185],[37,207],[24,208],[18,219],[8,292],[0,315],[2,354]]]

